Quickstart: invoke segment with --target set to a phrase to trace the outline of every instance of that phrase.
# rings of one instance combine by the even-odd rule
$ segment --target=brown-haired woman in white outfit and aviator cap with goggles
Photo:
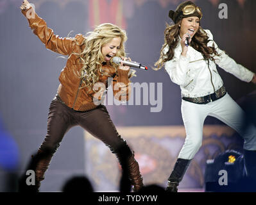
[[[167,191],[177,192],[189,163],[201,147],[203,122],[209,115],[225,122],[244,138],[244,159],[247,174],[253,156],[256,158],[256,129],[253,124],[243,129],[244,111],[227,94],[216,64],[242,81],[256,83],[253,72],[235,63],[213,40],[212,33],[200,26],[201,9],[191,1],[169,11],[175,22],[164,31],[165,42],[157,69],[165,66],[171,81],[180,85],[182,92],[182,119],[186,138],[175,167],[168,179]]]

